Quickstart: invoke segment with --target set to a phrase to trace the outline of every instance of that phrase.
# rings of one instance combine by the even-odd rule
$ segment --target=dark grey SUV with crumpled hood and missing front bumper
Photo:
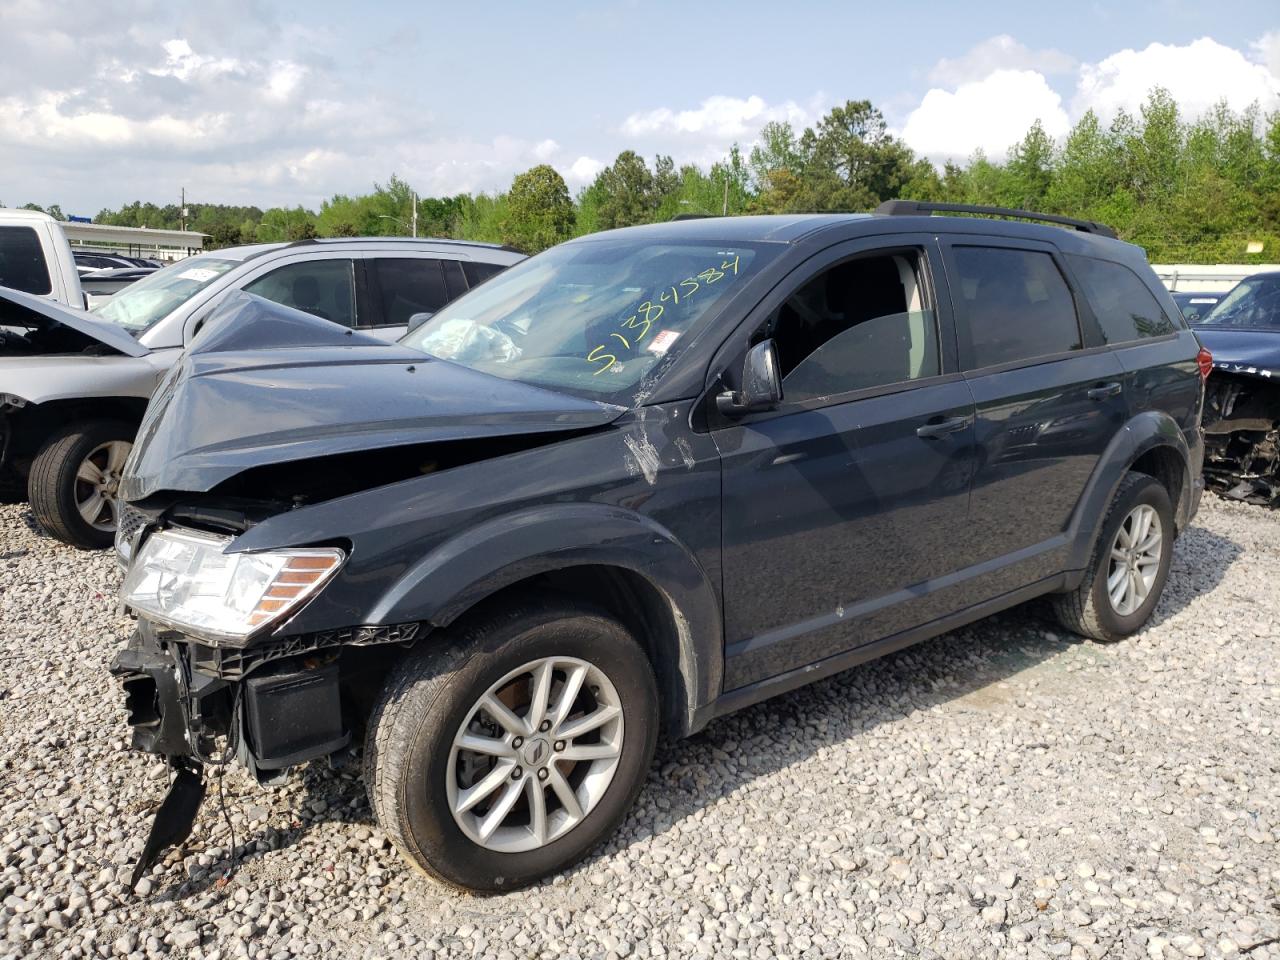
[[[937,209],[585,237],[398,344],[225,306],[122,488],[113,671],[177,771],[140,869],[201,764],[362,733],[404,856],[517,887],[614,829],[659,728],[1043,594],[1142,627],[1207,355],[1107,228]]]

